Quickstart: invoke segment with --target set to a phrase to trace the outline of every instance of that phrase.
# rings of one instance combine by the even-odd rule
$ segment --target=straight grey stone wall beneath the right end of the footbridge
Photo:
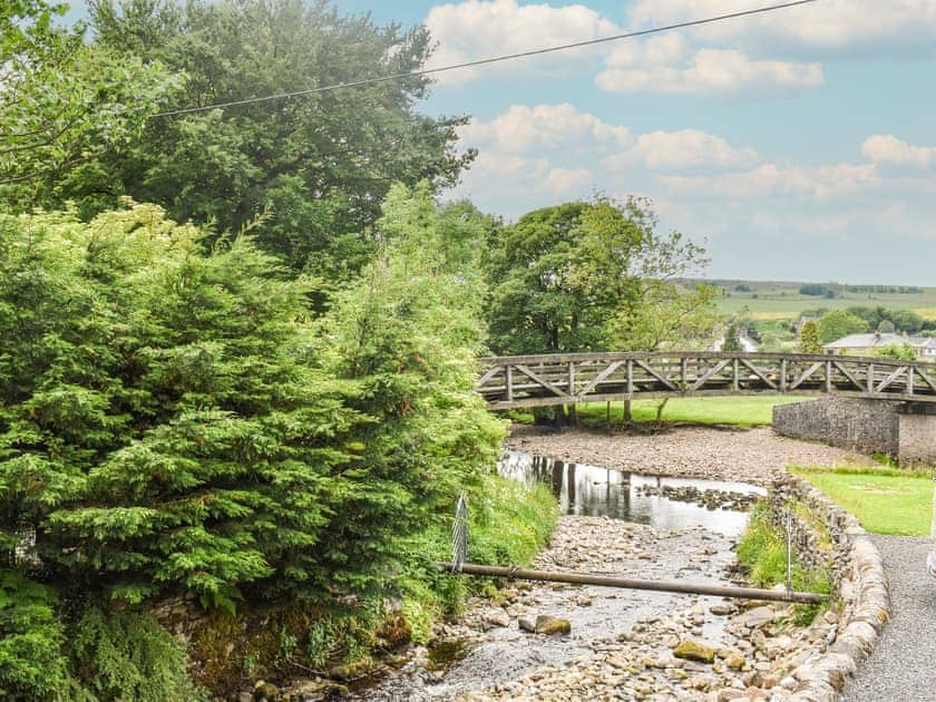
[[[897,456],[900,402],[821,398],[773,408],[773,430],[784,437],[812,439],[844,449]]]

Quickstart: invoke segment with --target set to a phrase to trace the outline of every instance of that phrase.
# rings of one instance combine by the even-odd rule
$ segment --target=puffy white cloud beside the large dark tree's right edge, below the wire
[[[501,152],[523,154],[534,149],[620,148],[628,143],[631,133],[563,103],[513,105],[491,121],[472,119],[459,130],[459,136],[469,146],[488,144]]]

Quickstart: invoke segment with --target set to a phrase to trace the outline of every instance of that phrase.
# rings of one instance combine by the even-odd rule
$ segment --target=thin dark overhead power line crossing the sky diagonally
[[[555,53],[556,51],[566,51],[568,49],[578,49],[581,47],[589,47],[597,43],[607,43],[610,41],[621,41],[622,39],[633,39],[635,37],[645,37],[647,35],[656,35],[664,31],[672,31],[674,29],[685,29],[688,27],[699,27],[700,25],[712,25],[714,22],[722,22],[725,20],[737,19],[740,17],[750,17],[751,14],[763,14],[764,12],[773,12],[776,10],[784,10],[801,4],[811,4],[819,2],[819,0],[794,0],[792,2],[782,2],[780,4],[771,4],[761,8],[753,8],[751,10],[739,10],[738,12],[729,12],[727,14],[718,14],[714,17],[706,17],[704,19],[689,20],[685,22],[677,22],[675,25],[665,25],[663,27],[652,27],[650,29],[641,29],[638,31],[630,31],[623,35],[613,35],[611,37],[598,37],[597,39],[586,39],[584,41],[574,41],[572,43],[563,43],[554,47],[546,47],[543,49],[533,49],[529,51],[520,51],[518,53],[506,53],[504,56],[494,56],[490,58],[478,59],[475,61],[466,61],[464,64],[452,64],[450,66],[440,66],[438,68],[423,68],[420,70],[409,71],[404,74],[390,74],[388,76],[377,76],[374,78],[364,78],[361,80],[352,80],[350,82],[339,82],[331,86],[321,86],[319,88],[309,88],[306,90],[296,90],[294,92],[281,92],[279,95],[267,95],[264,97],[253,97],[243,100],[232,100],[230,103],[218,103],[216,105],[204,105],[201,107],[185,107],[182,109],[168,110],[153,115],[156,117],[175,117],[178,115],[192,115],[194,113],[204,113],[212,109],[224,109],[226,107],[238,107],[242,105],[255,105],[256,103],[269,103],[271,100],[284,100],[294,97],[304,97],[306,95],[316,95],[320,92],[331,92],[333,90],[343,90],[347,88],[360,88],[363,86],[372,86],[380,82],[389,82],[391,80],[402,80],[403,78],[416,78],[419,76],[429,76],[432,74],[441,74],[450,70],[458,70],[460,68],[474,68],[476,66],[487,66],[489,64],[499,64],[501,61],[511,61],[518,58],[528,56],[540,56],[543,53]]]

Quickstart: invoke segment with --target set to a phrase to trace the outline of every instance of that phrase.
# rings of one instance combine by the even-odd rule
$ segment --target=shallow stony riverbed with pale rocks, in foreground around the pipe
[[[725,583],[733,540],[565,516],[535,566]],[[786,673],[835,631],[821,617],[792,627],[786,605],[739,608],[719,597],[525,582],[501,596],[472,601],[459,623],[437,628],[431,650],[412,650],[400,671],[353,699],[784,700],[797,685]],[[566,621],[571,632],[525,631],[537,617]],[[442,665],[439,652],[455,660]]]

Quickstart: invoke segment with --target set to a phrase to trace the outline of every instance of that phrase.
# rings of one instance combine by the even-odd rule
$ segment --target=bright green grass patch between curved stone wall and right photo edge
[[[791,468],[868,532],[929,536],[934,482],[928,474],[895,468]]]

